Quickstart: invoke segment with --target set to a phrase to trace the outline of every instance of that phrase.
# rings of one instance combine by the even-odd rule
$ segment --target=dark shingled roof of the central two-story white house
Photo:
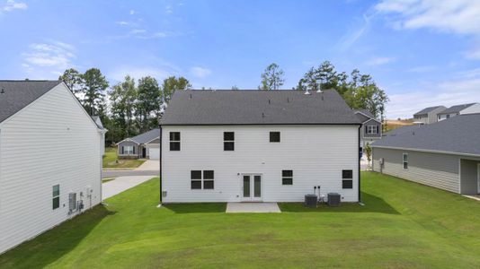
[[[161,125],[360,124],[337,91],[175,91]]]

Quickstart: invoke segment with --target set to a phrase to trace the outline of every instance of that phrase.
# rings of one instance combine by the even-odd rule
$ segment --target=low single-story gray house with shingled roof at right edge
[[[372,148],[375,171],[462,195],[480,193],[480,114],[399,128]]]

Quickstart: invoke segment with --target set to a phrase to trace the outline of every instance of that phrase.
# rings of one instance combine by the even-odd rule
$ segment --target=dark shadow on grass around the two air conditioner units
[[[361,193],[361,201],[365,205],[357,203],[343,203],[339,207],[330,207],[326,204],[320,204],[316,208],[309,208],[303,203],[279,203],[281,212],[285,213],[387,213],[400,214],[390,204],[387,204],[382,198],[368,193]]]

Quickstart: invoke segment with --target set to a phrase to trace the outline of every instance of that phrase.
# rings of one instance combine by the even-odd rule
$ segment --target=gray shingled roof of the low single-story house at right
[[[409,148],[480,156],[480,114],[459,115],[431,125],[404,128],[394,135],[387,134],[381,140],[372,143],[372,147]]]

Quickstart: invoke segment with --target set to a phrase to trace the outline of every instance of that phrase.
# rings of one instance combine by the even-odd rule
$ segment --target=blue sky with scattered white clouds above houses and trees
[[[0,79],[57,79],[98,67],[255,89],[272,62],[284,89],[313,65],[371,74],[387,117],[480,101],[480,1],[0,0]]]

